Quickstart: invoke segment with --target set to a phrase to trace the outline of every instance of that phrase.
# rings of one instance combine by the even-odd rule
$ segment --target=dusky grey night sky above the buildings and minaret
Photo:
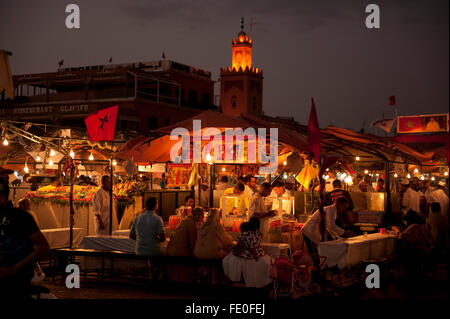
[[[80,29],[65,26],[70,3],[80,6]],[[380,6],[380,29],[365,26],[370,3]],[[248,34],[253,18],[265,113],[306,123],[313,96],[321,127],[359,130],[393,116],[390,95],[400,115],[448,112],[448,12],[448,0],[14,0],[0,4],[0,48],[13,53],[13,74],[53,72],[61,59],[153,61],[164,50],[217,81],[241,16]]]

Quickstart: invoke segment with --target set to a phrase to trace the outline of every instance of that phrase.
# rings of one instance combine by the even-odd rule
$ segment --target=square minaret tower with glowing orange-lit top
[[[220,70],[220,106],[225,114],[262,115],[263,74],[252,67],[252,46],[242,18],[241,31],[231,44],[231,67]]]

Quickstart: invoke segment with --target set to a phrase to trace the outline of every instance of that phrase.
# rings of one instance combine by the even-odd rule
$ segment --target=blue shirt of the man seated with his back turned
[[[136,255],[161,255],[159,234],[164,234],[164,225],[154,210],[146,210],[137,216],[130,230],[130,236],[136,236]]]

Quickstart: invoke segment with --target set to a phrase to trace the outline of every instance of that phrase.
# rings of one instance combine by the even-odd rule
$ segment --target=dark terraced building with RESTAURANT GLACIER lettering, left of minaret
[[[151,130],[217,108],[211,73],[170,60],[59,68],[13,81],[1,119],[84,127],[87,115],[118,104],[117,130]]]

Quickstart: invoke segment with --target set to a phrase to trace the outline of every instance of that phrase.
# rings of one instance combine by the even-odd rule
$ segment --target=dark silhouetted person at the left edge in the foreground
[[[27,297],[35,262],[49,245],[33,217],[9,201],[8,182],[0,178],[0,300]]]

